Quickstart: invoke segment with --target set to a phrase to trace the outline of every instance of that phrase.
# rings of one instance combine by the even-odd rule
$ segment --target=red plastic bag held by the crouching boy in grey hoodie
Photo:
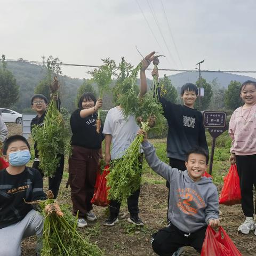
[[[210,226],[205,232],[201,256],[242,256],[226,231],[220,227],[216,233]]]

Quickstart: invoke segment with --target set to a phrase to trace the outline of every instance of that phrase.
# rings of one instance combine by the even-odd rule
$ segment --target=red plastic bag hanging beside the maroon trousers
[[[103,172],[101,173],[100,167],[99,171],[97,172],[96,182],[94,186],[94,194],[91,199],[91,203],[98,205],[98,206],[108,206],[109,200],[108,197],[108,190],[106,177],[109,173],[109,165],[106,165]]]

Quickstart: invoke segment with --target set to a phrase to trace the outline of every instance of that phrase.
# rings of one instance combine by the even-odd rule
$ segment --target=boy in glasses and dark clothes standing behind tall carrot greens
[[[53,96],[53,97],[54,97],[53,98],[54,100],[58,100],[58,109],[60,109],[60,100],[58,99],[57,96]],[[30,123],[31,133],[34,125],[39,125],[39,126],[44,125],[44,117],[46,114],[47,104],[48,104],[47,98],[43,94],[35,94],[31,98],[31,108],[35,110],[37,113],[37,116],[33,118]],[[43,171],[39,168],[40,159],[39,159],[36,143],[34,145],[34,149],[35,149],[35,159],[32,167],[34,169],[37,169],[41,173],[43,178],[44,177]],[[58,154],[58,157],[60,157],[60,161],[56,169],[55,175],[52,178],[49,177],[49,190],[52,190],[54,198],[57,198],[58,196],[60,183],[63,175],[63,169],[64,169],[64,155]]]

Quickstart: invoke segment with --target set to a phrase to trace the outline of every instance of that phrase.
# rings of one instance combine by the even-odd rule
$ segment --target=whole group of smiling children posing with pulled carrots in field
[[[151,59],[142,60],[140,71],[141,87],[138,97],[147,91],[145,70]],[[158,75],[153,70],[152,75]],[[159,94],[161,95],[161,94]],[[103,157],[102,141],[105,139],[105,162],[113,165],[121,159],[125,150],[137,134],[143,134],[140,157],[145,155],[151,169],[166,179],[169,188],[167,227],[153,235],[151,244],[158,255],[179,255],[182,247],[189,245],[201,252],[207,225],[220,226],[218,191],[211,178],[203,177],[209,161],[202,114],[194,109],[198,91],[194,84],[185,84],[181,88],[183,105],[167,101],[162,103],[164,116],[168,123],[167,157],[169,165],[156,156],[154,147],[147,140],[147,133],[141,129],[135,118],[124,118],[122,105],[108,111],[101,133],[96,131],[97,110],[102,106],[101,99],[95,99],[90,92],[85,92],[78,102],[78,109],[70,118],[72,130],[69,158],[69,180],[73,214],[78,213],[78,227],[87,226],[87,220],[97,219],[92,212],[91,199],[98,170],[99,159]],[[237,163],[240,177],[242,210],[245,221],[238,231],[249,234],[255,229],[253,214],[253,185],[256,186],[256,83],[245,82],[241,87],[244,105],[236,109],[230,119],[229,134],[233,139],[231,145],[231,163]],[[55,98],[54,100],[58,100]],[[31,99],[31,106],[37,116],[31,122],[43,126],[47,108],[47,99],[36,94]],[[0,117],[0,131],[2,129]],[[2,141],[6,134],[0,133]],[[3,139],[2,139],[3,138]],[[143,153],[142,153],[143,152]],[[14,135],[4,141],[3,156],[9,167],[0,171],[0,255],[20,255],[21,239],[31,235],[42,235],[43,219],[30,204],[36,199],[44,199],[43,173],[38,169],[40,156],[35,145],[33,168],[26,164],[30,159],[30,147],[27,140]],[[114,161],[115,160],[115,161]],[[63,173],[64,158],[60,158],[55,177],[49,178],[49,189],[57,197]],[[143,225],[139,217],[140,190],[127,198],[130,213],[129,222]],[[111,201],[109,217],[103,222],[105,226],[114,226],[118,222],[121,204]],[[15,236],[13,236],[15,234]],[[254,233],[256,235],[256,231]],[[40,245],[40,244],[39,244]],[[39,247],[37,253],[39,255]]]

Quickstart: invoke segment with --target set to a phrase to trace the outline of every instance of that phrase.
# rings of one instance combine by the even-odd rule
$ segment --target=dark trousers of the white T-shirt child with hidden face
[[[139,170],[140,172],[142,171],[142,159],[143,156],[142,154],[139,156]],[[115,160],[116,161],[116,160]],[[112,162],[111,164],[114,164]],[[139,196],[140,196],[140,189],[136,190],[131,196],[127,198],[127,206],[128,206],[128,211],[131,216],[138,216],[139,214]],[[111,218],[117,218],[119,211],[121,207],[121,202],[116,201],[116,200],[111,200],[110,205],[109,205],[109,212],[110,212],[110,217]]]

